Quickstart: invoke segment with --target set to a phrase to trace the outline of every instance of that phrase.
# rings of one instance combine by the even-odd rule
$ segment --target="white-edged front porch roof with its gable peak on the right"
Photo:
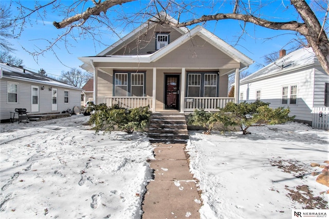
[[[192,30],[186,32],[185,34],[178,37],[175,41],[171,42],[167,46],[157,50],[152,54],[143,54],[143,55],[106,55],[106,56],[88,56],[88,57],[79,57],[79,59],[85,63],[83,66],[86,69],[86,65],[89,65],[90,61],[93,62],[108,62],[108,63],[151,63],[156,62],[161,57],[167,55],[171,51],[177,49],[180,45],[189,41],[193,36],[200,36],[206,42],[213,45],[218,50],[221,50],[228,56],[230,56],[235,61],[242,64],[241,68],[248,67],[253,63],[252,59],[241,53],[239,50],[236,50],[234,47],[230,46],[222,39],[209,32],[202,26],[196,26]],[[104,50],[105,51],[105,50]]]

